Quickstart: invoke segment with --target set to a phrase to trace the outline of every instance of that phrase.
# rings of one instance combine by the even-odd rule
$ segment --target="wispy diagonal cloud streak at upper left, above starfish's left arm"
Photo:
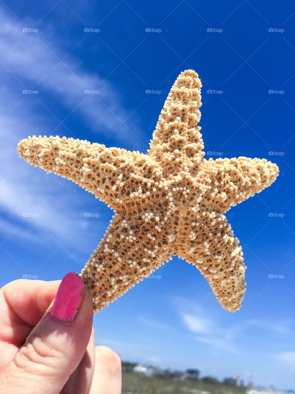
[[[83,71],[80,62],[73,56],[74,44],[72,51],[65,53],[55,44],[59,42],[58,37],[48,39],[41,32],[24,33],[23,25],[4,11],[0,11],[0,21],[3,79],[7,81],[9,76],[20,89],[37,89],[53,94],[61,106],[68,108],[69,114],[75,110],[92,130],[104,134],[105,138],[112,132],[121,141],[124,141],[126,133],[140,135],[135,115],[131,118],[131,112],[127,113],[122,107],[123,97],[114,85],[98,75]],[[83,45],[84,38],[82,36],[76,46]],[[90,89],[100,93],[84,93]],[[143,143],[135,138],[136,144],[139,149],[144,148]]]

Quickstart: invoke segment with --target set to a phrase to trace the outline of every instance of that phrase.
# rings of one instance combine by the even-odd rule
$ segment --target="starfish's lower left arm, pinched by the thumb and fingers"
[[[153,227],[151,228],[151,221]],[[113,216],[105,238],[80,274],[92,294],[94,313],[121,297],[171,256],[165,241],[136,212]]]

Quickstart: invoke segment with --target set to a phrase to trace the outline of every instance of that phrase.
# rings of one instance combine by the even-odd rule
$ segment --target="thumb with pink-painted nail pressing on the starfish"
[[[93,307],[81,278],[68,273],[52,309],[0,373],[0,392],[56,394],[79,365],[92,330]]]

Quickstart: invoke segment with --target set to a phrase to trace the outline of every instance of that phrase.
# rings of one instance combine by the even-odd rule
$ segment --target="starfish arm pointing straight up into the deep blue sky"
[[[166,168],[177,172],[182,166],[198,167],[203,159],[202,135],[197,126],[201,118],[201,81],[193,70],[181,72],[164,103],[149,155]],[[174,171],[173,171],[174,169]]]

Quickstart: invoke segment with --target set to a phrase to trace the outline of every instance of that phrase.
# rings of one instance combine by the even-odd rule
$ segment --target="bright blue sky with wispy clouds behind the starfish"
[[[294,21],[294,4],[278,1],[1,2],[0,285],[79,273],[112,215],[26,164],[18,141],[74,136],[146,152],[171,85],[195,69],[205,158],[280,167],[270,188],[227,213],[248,267],[242,309],[223,310],[173,257],[94,317],[96,343],[124,360],[295,388]]]

